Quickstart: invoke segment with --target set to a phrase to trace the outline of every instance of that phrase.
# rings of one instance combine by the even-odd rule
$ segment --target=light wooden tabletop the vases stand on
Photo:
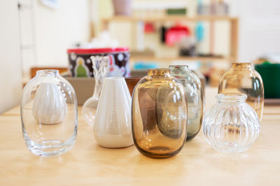
[[[207,108],[214,94],[207,87]],[[200,131],[169,159],[144,157],[134,146],[102,148],[78,116],[78,137],[69,152],[36,157],[22,138],[20,108],[3,113],[0,185],[280,185],[280,106],[265,106],[260,136],[246,152],[216,152]]]

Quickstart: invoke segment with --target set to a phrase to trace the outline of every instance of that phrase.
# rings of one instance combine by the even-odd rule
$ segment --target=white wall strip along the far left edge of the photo
[[[0,113],[20,103],[22,66],[18,1],[0,1]]]

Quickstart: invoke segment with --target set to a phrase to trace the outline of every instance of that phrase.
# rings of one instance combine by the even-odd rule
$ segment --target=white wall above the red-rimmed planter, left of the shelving
[[[31,4],[33,13],[21,14],[26,15],[22,27],[29,27],[22,32],[22,38],[26,38],[22,44],[32,43],[34,38],[35,55],[31,50],[23,51],[24,72],[28,73],[31,66],[68,66],[66,49],[90,40],[91,0],[59,0],[57,9],[39,0],[25,1]],[[34,26],[30,23],[32,17],[27,15],[33,16]]]

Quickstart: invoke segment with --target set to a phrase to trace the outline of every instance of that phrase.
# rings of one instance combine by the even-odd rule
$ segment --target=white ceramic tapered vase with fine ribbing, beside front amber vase
[[[94,138],[104,148],[133,145],[132,99],[125,78],[106,78],[94,119]]]

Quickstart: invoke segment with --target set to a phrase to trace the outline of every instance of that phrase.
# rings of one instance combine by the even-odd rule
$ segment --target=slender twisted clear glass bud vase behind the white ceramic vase
[[[100,93],[102,90],[103,82],[106,78],[106,73],[109,69],[109,57],[108,56],[92,56],[92,69],[94,72],[94,94],[87,99],[83,104],[82,115],[83,119],[90,126],[93,125],[97,104],[99,101]]]

